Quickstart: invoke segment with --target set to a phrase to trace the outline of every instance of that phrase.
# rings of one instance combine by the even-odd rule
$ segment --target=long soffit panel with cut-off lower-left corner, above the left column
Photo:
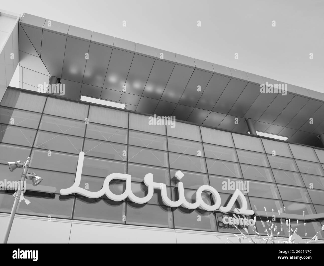
[[[41,59],[51,76],[61,78],[65,44],[66,36],[53,32],[43,31],[41,43]]]

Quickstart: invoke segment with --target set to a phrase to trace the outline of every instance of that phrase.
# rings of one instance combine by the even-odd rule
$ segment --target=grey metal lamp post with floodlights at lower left
[[[22,197],[22,199],[24,199],[22,191],[23,191],[25,179],[26,178],[31,179],[34,186],[38,185],[43,180],[41,177],[37,176],[35,173],[29,174],[29,172],[28,172],[29,161],[30,161],[30,157],[27,158],[25,163],[21,163],[20,161],[8,162],[8,167],[9,167],[10,172],[14,171],[16,168],[23,168],[23,171],[21,173],[21,179],[18,184],[18,189],[15,192],[15,194],[13,195],[15,197],[15,201],[14,201],[14,205],[12,206],[12,209],[11,209],[9,222],[8,222],[7,229],[6,229],[6,234],[5,234],[5,238],[3,241],[4,244],[6,244],[8,241],[11,226],[12,226],[12,223],[14,221],[14,217],[15,217],[15,214],[17,211],[18,203],[19,203],[19,201],[21,201],[20,198]],[[25,202],[27,204],[29,204],[29,201],[26,199],[25,199]]]

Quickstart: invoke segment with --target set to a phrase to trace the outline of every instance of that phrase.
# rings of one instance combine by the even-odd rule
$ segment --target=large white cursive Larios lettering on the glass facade
[[[97,192],[91,192],[91,191],[88,191],[82,187],[79,187],[80,182],[81,182],[83,160],[84,160],[84,152],[80,152],[78,165],[77,165],[77,169],[76,169],[76,174],[75,174],[75,182],[69,188],[62,188],[60,190],[61,195],[70,195],[73,193],[78,193],[78,194],[80,194],[82,196],[86,196],[88,198],[98,198],[98,197],[101,197],[104,194],[106,194],[106,196],[108,198],[110,198],[111,200],[121,201],[128,197],[131,201],[133,201],[135,203],[143,204],[143,203],[148,202],[152,198],[154,189],[160,189],[163,203],[165,205],[173,207],[173,208],[182,206],[187,209],[197,209],[198,207],[201,207],[207,211],[214,211],[216,209],[219,209],[221,212],[225,213],[225,212],[229,212],[232,209],[235,201],[238,199],[240,202],[241,208],[240,209],[235,208],[234,209],[235,213],[245,214],[245,215],[253,215],[254,214],[253,210],[248,209],[248,203],[246,201],[246,198],[244,197],[243,193],[238,189],[232,195],[227,206],[220,207],[221,206],[221,197],[220,197],[219,193],[217,192],[217,190],[214,189],[214,187],[212,187],[212,186],[203,185],[203,186],[199,187],[196,192],[196,202],[190,203],[185,199],[183,183],[180,181],[178,183],[179,199],[177,201],[172,201],[168,198],[168,195],[167,195],[167,185],[163,184],[163,183],[154,182],[153,174],[151,174],[151,173],[146,174],[144,177],[144,183],[148,187],[148,193],[145,197],[135,196],[131,189],[132,176],[129,174],[121,174],[121,173],[112,173],[112,174],[108,175],[105,178],[102,188]],[[183,174],[180,171],[178,171],[176,174],[176,177],[180,180],[183,177]],[[109,183],[113,179],[126,181],[126,189],[122,194],[116,195],[110,191]],[[202,198],[203,191],[209,191],[210,193],[212,193],[214,195],[214,198],[215,198],[214,205],[208,205],[203,201],[203,198]]]

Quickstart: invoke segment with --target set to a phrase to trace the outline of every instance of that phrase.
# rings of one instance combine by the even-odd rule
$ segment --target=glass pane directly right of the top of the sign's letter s
[[[249,181],[249,196],[280,199],[276,184]]]

